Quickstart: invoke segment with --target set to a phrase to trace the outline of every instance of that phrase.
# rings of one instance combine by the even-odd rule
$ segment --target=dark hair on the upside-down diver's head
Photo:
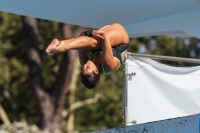
[[[81,73],[81,82],[88,89],[93,89],[97,86],[97,83],[100,80],[100,74],[92,72],[90,75],[85,75]]]

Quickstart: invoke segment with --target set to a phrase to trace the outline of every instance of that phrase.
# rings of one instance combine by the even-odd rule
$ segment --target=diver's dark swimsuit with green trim
[[[129,46],[129,44],[120,44],[120,45],[118,45],[116,47],[112,47],[113,56],[115,56],[117,59],[119,59],[120,66],[123,63],[122,54],[127,51],[128,46]],[[92,52],[90,54],[90,56],[89,56],[89,59],[91,59],[95,54],[102,55],[102,50],[97,50],[97,51]],[[120,66],[115,71],[117,71],[120,68]],[[113,71],[113,72],[115,72],[115,71]],[[103,74],[111,74],[111,73],[113,73],[113,72],[107,72],[107,73],[105,72],[104,67],[103,67],[103,62],[102,62],[102,72],[103,72]]]

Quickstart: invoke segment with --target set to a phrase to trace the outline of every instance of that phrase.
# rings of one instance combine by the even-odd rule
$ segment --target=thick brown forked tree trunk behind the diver
[[[69,92],[69,84],[77,51],[69,50],[64,52],[59,71],[56,74],[56,81],[51,88],[46,88],[42,77],[42,61],[37,48],[37,40],[39,38],[37,20],[31,17],[22,17],[22,22],[27,45],[29,80],[36,99],[40,126],[51,131],[60,131],[61,113],[66,100],[66,94]],[[64,39],[78,36],[83,29],[84,27],[77,26],[72,33],[69,25],[61,24]]]

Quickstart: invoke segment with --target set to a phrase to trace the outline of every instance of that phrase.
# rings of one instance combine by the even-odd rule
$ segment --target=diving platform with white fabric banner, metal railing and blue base
[[[195,59],[127,52],[123,125],[92,133],[200,133],[200,66],[173,67],[156,59],[200,63]]]

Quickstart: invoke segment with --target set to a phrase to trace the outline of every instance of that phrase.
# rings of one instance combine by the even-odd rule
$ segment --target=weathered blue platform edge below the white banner
[[[200,114],[101,130],[92,133],[200,133]]]

